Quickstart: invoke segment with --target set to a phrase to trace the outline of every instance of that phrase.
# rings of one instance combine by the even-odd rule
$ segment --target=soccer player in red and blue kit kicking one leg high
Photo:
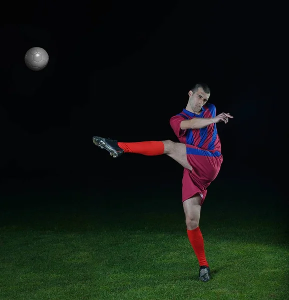
[[[109,151],[113,157],[123,153],[167,154],[184,167],[182,202],[187,235],[199,262],[199,279],[208,281],[210,268],[199,228],[201,205],[207,187],[216,178],[223,161],[216,123],[227,123],[233,116],[224,112],[216,115],[215,105],[208,103],[210,88],[206,83],[195,84],[188,95],[186,108],[170,119],[170,125],[180,142],[118,142],[99,136],[94,136],[93,142]]]

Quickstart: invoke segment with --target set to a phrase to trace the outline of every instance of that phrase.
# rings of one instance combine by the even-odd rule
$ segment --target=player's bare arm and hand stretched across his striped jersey
[[[215,117],[195,117],[190,120],[183,120],[181,121],[180,127],[182,130],[184,129],[199,129],[204,128],[210,124],[218,123],[223,121],[224,123],[227,123],[229,118],[233,118],[232,115],[229,113],[222,112],[218,114]]]

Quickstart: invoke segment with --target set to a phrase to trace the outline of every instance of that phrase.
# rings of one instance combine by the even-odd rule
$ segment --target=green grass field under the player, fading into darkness
[[[136,201],[133,193],[116,200],[111,192],[99,206],[92,203],[103,194],[22,195],[30,206],[1,215],[0,299],[289,299],[280,202],[260,207],[239,192],[220,207],[214,194],[221,190],[212,190],[200,221],[208,282],[198,281],[178,194],[147,189]],[[47,205],[34,207],[39,198]]]

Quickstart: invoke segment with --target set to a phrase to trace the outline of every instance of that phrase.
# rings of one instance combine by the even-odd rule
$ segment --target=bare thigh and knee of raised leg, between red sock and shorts
[[[165,154],[176,160],[183,167],[189,169],[190,171],[193,169],[187,159],[187,147],[185,144],[173,142],[171,140],[164,140],[163,143],[165,145]]]

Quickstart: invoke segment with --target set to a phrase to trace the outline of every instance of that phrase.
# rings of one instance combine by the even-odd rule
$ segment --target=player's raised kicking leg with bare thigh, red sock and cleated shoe
[[[187,160],[186,145],[179,142],[171,140],[118,142],[117,140],[100,136],[94,136],[92,140],[100,148],[109,151],[113,157],[119,157],[123,153],[139,153],[143,155],[167,154],[183,167],[192,170]]]

